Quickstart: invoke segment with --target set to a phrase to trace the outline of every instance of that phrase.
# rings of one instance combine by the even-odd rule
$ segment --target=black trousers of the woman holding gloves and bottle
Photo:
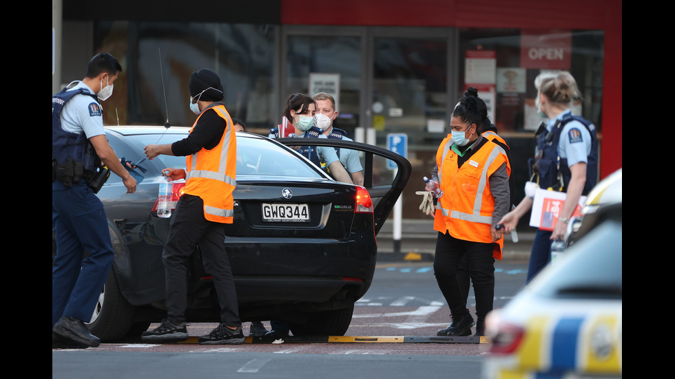
[[[457,269],[466,259],[466,268],[476,295],[476,316],[484,320],[492,310],[495,299],[495,258],[493,244],[457,239],[448,233],[438,233],[434,257],[434,274],[438,287],[446,299],[450,312],[458,315],[466,312],[468,287],[459,285]]]

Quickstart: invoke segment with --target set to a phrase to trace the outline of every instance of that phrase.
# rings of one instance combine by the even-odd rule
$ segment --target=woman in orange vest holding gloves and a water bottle
[[[437,230],[434,274],[450,307],[453,322],[439,336],[468,336],[485,329],[495,294],[495,257],[501,259],[503,235],[495,226],[510,206],[506,151],[484,138],[479,127],[488,120],[487,107],[476,96],[465,96],[453,111],[452,133],[436,153]],[[489,122],[489,120],[488,120]],[[476,296],[477,324],[466,308],[466,296],[457,282],[459,262],[466,259]]]

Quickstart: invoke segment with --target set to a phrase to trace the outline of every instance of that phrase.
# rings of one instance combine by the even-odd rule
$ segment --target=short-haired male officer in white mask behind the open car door
[[[317,114],[322,114],[329,119],[326,124],[319,124],[317,127],[324,129],[324,136],[328,138],[336,138],[345,141],[353,141],[346,136],[346,131],[333,127],[333,122],[337,118],[337,109],[335,109],[335,98],[326,92],[319,92],[313,96],[317,106]],[[358,186],[363,185],[363,167],[359,153],[349,149],[335,149],[337,157],[340,158],[340,163],[344,169],[351,175],[352,182]]]

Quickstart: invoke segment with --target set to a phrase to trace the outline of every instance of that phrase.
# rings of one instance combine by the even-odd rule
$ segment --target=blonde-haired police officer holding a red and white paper
[[[572,100],[579,98],[577,80],[569,72],[542,72],[534,79],[537,88],[537,112],[546,119],[537,138],[535,155],[539,188],[566,193],[565,203],[553,230],[537,229],[530,252],[527,282],[550,261],[551,242],[563,239],[567,224],[582,195],[588,194],[598,179],[598,138],[592,122],[574,116]],[[500,224],[509,232],[532,208],[534,199],[526,191],[518,206],[504,216]]]

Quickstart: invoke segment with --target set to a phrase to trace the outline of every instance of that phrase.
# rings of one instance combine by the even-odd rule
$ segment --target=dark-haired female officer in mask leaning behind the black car
[[[323,130],[314,126],[316,102],[305,94],[293,94],[286,100],[282,124],[269,131],[269,138],[326,138]],[[326,164],[329,173],[339,182],[352,183],[351,176],[340,163],[333,147],[300,146],[298,152],[318,167]]]

